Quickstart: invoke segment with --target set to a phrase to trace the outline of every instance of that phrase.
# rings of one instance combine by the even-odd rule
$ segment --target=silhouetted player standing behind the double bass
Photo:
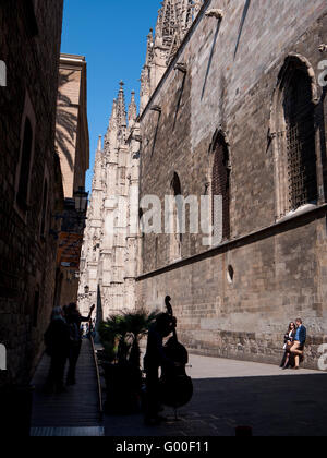
[[[146,373],[146,405],[145,424],[154,426],[165,419],[159,415],[160,411],[160,386],[159,367],[178,364],[167,358],[164,349],[164,338],[168,337],[177,327],[177,320],[168,313],[161,313],[148,332],[144,369]]]

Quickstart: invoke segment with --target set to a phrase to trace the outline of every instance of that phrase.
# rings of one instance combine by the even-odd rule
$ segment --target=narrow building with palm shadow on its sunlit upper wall
[[[61,226],[58,276],[61,287],[57,304],[77,302],[80,255],[85,213],[75,210],[75,193],[85,190],[89,167],[87,121],[87,62],[84,56],[60,55],[56,145],[64,189],[64,218]],[[80,219],[78,219],[80,218]]]

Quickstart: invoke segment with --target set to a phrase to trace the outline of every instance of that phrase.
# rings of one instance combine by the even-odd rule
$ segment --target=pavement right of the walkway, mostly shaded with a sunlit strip
[[[106,415],[107,436],[327,436],[327,374],[191,355],[194,397],[170,420],[146,427],[142,415]]]

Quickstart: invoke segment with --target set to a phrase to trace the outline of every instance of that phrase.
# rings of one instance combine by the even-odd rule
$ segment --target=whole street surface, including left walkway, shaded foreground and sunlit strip
[[[178,412],[166,409],[167,422],[144,425],[143,415],[99,417],[97,378],[88,340],[83,341],[77,385],[62,395],[47,395],[49,359],[35,376],[33,436],[196,437],[234,436],[250,426],[254,436],[326,435],[327,374],[281,371],[268,364],[191,355],[194,396]]]

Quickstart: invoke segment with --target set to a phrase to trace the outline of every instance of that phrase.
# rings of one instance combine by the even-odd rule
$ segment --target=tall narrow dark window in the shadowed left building
[[[33,146],[33,129],[28,118],[25,120],[22,160],[20,169],[20,183],[17,193],[17,204],[23,210],[27,210],[27,194],[31,174],[32,161],[32,146]]]

